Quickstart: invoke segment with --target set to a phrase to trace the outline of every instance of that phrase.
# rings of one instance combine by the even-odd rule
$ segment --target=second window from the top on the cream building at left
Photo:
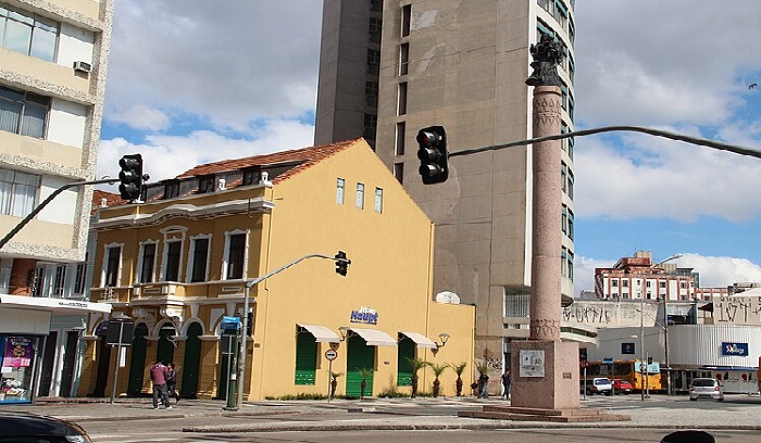
[[[0,86],[0,130],[43,138],[50,98]]]

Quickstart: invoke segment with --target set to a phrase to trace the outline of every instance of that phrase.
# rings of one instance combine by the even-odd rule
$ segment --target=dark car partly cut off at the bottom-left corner
[[[0,412],[0,442],[91,443],[79,425],[55,417]]]

